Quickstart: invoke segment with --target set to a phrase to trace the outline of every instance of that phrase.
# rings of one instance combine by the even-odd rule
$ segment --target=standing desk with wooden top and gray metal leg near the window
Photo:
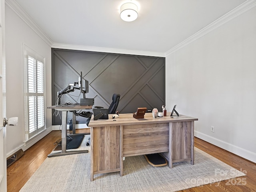
[[[48,107],[48,109],[55,109],[55,110],[62,112],[61,152],[49,154],[48,157],[63,156],[63,155],[78,154],[78,153],[88,153],[88,150],[66,151],[66,142],[67,142],[67,140],[66,140],[67,128],[66,127],[67,127],[68,111],[76,111],[76,110],[91,109],[91,108],[92,108],[92,106],[80,105],[80,104],[54,105],[54,106]]]

